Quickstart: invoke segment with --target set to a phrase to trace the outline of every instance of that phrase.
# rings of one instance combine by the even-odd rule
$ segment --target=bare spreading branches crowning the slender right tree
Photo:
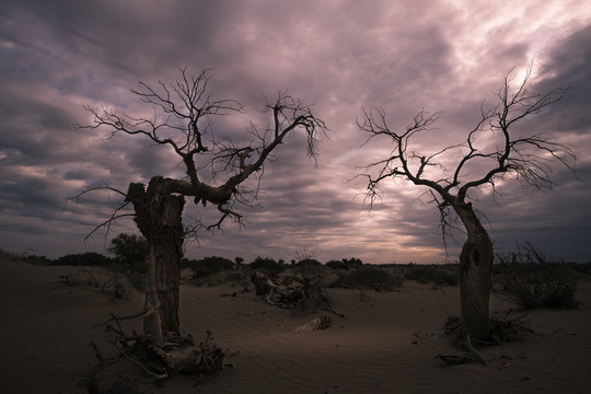
[[[563,100],[570,89],[570,85],[559,86],[547,93],[532,94],[526,89],[531,71],[530,66],[523,81],[513,89],[514,74],[513,70],[510,70],[496,93],[498,103],[488,108],[484,103],[480,105],[480,117],[474,128],[467,131],[465,141],[430,154],[415,152],[410,149],[410,144],[419,132],[430,130],[432,124],[438,120],[439,113],[429,115],[421,109],[405,130],[395,131],[389,127],[382,107],[371,111],[362,108],[362,118],[361,121],[357,120],[357,126],[370,135],[362,146],[378,137],[386,137],[394,144],[387,159],[363,167],[367,173],[361,176],[368,179],[363,202],[369,200],[371,209],[380,192],[379,185],[386,178],[403,178],[415,185],[427,186],[430,188],[431,201],[436,202],[440,211],[442,237],[447,244],[445,239],[453,229],[449,221],[450,207],[453,207],[456,213],[457,209],[464,210],[462,212],[465,215],[464,219],[475,218],[475,209],[465,201],[471,189],[490,185],[494,193],[498,194],[497,182],[503,179],[506,174],[514,176],[524,186],[552,188],[555,184],[551,175],[556,163],[575,173],[577,157],[569,146],[558,142],[548,134],[519,136],[515,131],[520,120],[540,114],[547,106]],[[483,134],[493,135],[499,144],[493,148],[480,147]],[[454,150],[462,152],[462,155],[453,170],[443,178],[427,178],[427,169],[430,166],[438,166],[447,172],[437,160]],[[476,163],[479,163],[479,166],[486,164],[488,167],[480,176],[468,176],[467,169],[474,167]],[[477,223],[479,220],[474,220],[478,224],[474,229],[479,231]],[[464,225],[473,224],[464,223]]]

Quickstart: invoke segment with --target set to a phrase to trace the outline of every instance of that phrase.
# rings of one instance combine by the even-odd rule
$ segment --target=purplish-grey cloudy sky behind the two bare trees
[[[573,88],[515,132],[553,132],[572,144],[581,172],[575,178],[556,166],[553,192],[508,179],[502,196],[494,199],[484,189],[474,204],[499,252],[529,241],[551,256],[589,262],[589,1],[4,0],[0,247],[49,257],[105,253],[112,236],[137,232],[130,220],[120,220],[106,239],[97,232],[84,243],[118,197],[86,195],[63,209],[65,201],[102,182],[125,190],[153,175],[183,176],[177,160],[139,137],[107,139],[106,130],[72,125],[91,121],[84,105],[151,114],[129,90],[139,81],[174,82],[187,67],[194,73],[212,69],[211,93],[253,109],[262,95],[278,91],[313,104],[331,139],[320,147],[317,169],[301,136],[288,140],[265,172],[259,206],[241,210],[246,227],[228,223],[224,234],[204,233],[186,245],[186,256],[290,260],[308,246],[317,247],[323,262],[444,262],[439,213],[421,197],[425,189],[387,182],[374,209],[364,209],[367,185],[355,178],[358,166],[385,159],[392,146],[374,140],[360,149],[368,136],[356,118],[361,108],[381,106],[390,127],[404,129],[422,108],[441,111],[430,142],[414,146],[432,153],[438,143],[462,142],[480,103],[495,103],[503,74],[514,67],[519,78],[530,62],[533,92]],[[243,136],[250,114],[256,118],[253,111],[216,126]],[[187,213],[212,218],[202,209]],[[462,234],[456,239],[463,242]],[[457,247],[450,241],[452,260]]]

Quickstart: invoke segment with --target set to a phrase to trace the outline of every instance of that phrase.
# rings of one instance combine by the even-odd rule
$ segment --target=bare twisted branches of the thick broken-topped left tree
[[[194,77],[185,68],[181,70],[181,74],[176,83],[158,82],[150,85],[140,81],[138,88],[131,91],[142,103],[149,105],[152,116],[119,115],[106,106],[85,106],[93,120],[88,126],[76,127],[102,128],[111,132],[111,138],[118,134],[138,135],[174,151],[186,169],[187,178],[162,178],[162,193],[193,196],[195,204],[207,206],[207,202],[210,202],[218,207],[222,215],[217,223],[200,224],[197,228],[221,229],[222,222],[228,218],[242,222],[242,216],[229,207],[235,202],[255,204],[265,164],[275,160],[274,151],[285,142],[288,135],[305,132],[308,154],[316,164],[317,146],[326,137],[328,128],[315,116],[311,106],[286,92],[279,92],[273,101],[265,99],[260,111],[270,114],[273,124],[260,129],[251,124],[251,127],[246,128],[246,131],[254,136],[253,140],[246,143],[236,143],[231,139],[219,141],[212,127],[213,118],[243,113],[244,106],[235,100],[213,99],[208,92],[208,83],[212,77],[210,70],[204,70]],[[199,172],[208,167],[211,167],[211,178],[201,179],[202,174]],[[253,188],[243,186],[243,183],[255,174],[256,182],[251,184]],[[92,190],[94,189],[84,193]],[[120,194],[128,199],[126,194]],[[108,227],[111,221],[118,217],[117,211],[114,212],[99,228]]]

